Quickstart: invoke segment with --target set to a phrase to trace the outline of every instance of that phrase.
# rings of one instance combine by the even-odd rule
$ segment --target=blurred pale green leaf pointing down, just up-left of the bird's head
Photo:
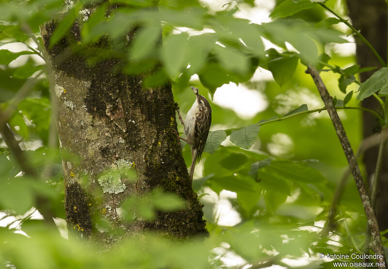
[[[163,40],[161,58],[169,77],[175,80],[181,70],[187,66],[187,33],[173,34]]]

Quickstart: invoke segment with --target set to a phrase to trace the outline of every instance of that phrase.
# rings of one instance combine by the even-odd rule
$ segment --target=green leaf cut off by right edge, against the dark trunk
[[[380,70],[373,73],[373,75],[365,80],[358,88],[358,101],[364,100],[366,97],[380,91],[388,83],[388,67],[382,67]]]

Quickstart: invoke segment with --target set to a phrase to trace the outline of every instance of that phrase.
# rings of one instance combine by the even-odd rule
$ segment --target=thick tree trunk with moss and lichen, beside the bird
[[[125,57],[110,55],[120,55],[125,47],[117,50],[117,43],[106,36],[74,52],[74,46],[81,41],[77,23],[50,47],[55,26],[53,21],[46,23],[41,32],[55,80],[53,95],[57,101],[68,230],[76,237],[97,238],[110,244],[117,238],[98,227],[96,220],[102,217],[124,234],[144,229],[178,238],[207,234],[202,205],[191,188],[172,131],[177,123],[171,85],[145,89],[145,75],[124,74]],[[133,34],[129,31],[121,44],[128,46]],[[96,55],[106,56],[89,65]],[[107,169],[123,166],[136,170],[135,181],[101,177]],[[153,222],[139,218],[125,222],[120,215],[122,201],[155,187],[185,199],[187,209],[157,212]]]

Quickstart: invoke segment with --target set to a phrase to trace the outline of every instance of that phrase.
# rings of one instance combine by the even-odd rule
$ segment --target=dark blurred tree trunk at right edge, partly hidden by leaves
[[[372,44],[381,57],[387,59],[387,4],[385,0],[348,0],[349,16],[353,26],[360,30],[362,35]],[[356,37],[356,57],[357,63],[361,67],[381,65],[372,51]],[[361,81],[368,79],[371,72],[360,74]],[[380,104],[372,96],[362,101],[362,106],[380,113]],[[363,112],[363,137],[367,138],[373,133],[379,132],[378,121],[371,113]],[[367,150],[364,154],[369,182],[372,181],[377,156],[378,146]],[[380,176],[380,194],[377,199],[376,215],[381,231],[388,229],[388,214],[385,210],[388,207],[388,152],[386,150],[383,160],[382,172]]]

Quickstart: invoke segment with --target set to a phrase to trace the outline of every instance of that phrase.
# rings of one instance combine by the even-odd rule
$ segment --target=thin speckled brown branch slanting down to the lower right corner
[[[361,202],[365,210],[365,215],[367,216],[368,223],[371,225],[371,234],[373,238],[373,251],[381,255],[382,258],[377,259],[380,263],[385,263],[385,253],[383,248],[383,243],[380,237],[380,231],[377,224],[376,216],[372,208],[371,200],[368,195],[367,188],[365,186],[364,180],[362,178],[360,169],[358,167],[356,157],[353,153],[352,147],[350,145],[349,139],[346,135],[345,129],[343,128],[342,122],[339,119],[338,113],[333,105],[333,98],[327,92],[326,86],[324,85],[318,70],[311,64],[307,66],[307,73],[309,73],[314,80],[319,94],[325,104],[327,112],[329,113],[330,119],[333,122],[334,128],[336,129],[337,136],[342,145],[342,149],[345,153],[346,159],[348,161],[350,170],[352,171],[353,177],[356,182],[356,187],[361,197]],[[387,268],[386,266],[379,268]]]

